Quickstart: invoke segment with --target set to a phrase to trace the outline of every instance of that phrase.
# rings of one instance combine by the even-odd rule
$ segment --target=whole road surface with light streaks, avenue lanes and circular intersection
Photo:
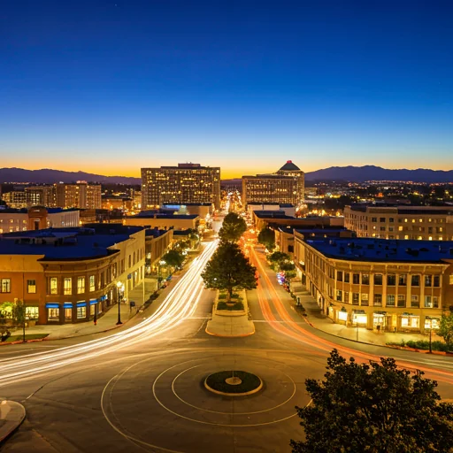
[[[288,293],[251,252],[261,278],[249,291],[256,334],[212,337],[204,328],[213,292],[199,273],[215,242],[131,327],[87,341],[34,343],[0,351],[0,395],[23,402],[27,420],[2,452],[288,452],[300,438],[294,406],[310,402],[306,378],[321,379],[336,347],[357,360],[390,354],[423,368],[453,397],[448,357],[357,344],[319,333],[291,308]],[[202,382],[211,372],[257,373],[257,395],[222,398]]]

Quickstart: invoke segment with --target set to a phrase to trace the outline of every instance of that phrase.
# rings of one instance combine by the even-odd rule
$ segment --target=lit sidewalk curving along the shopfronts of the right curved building
[[[321,312],[318,303],[307,291],[297,292],[296,295],[300,297],[300,301],[305,309],[306,317],[304,317],[311,326],[326,332],[326,334],[333,334],[335,336],[352,340],[354,342],[364,342],[380,346],[386,346],[388,342],[400,343],[402,341],[408,342],[428,340],[428,335],[424,334],[403,334],[392,332],[375,332],[368,330],[365,327],[347,327],[342,324],[335,324],[334,321],[329,319]],[[441,341],[441,338],[433,334],[433,342]]]

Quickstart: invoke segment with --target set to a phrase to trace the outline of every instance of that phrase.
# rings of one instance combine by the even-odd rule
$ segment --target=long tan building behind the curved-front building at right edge
[[[370,206],[344,208],[344,226],[358,237],[453,240],[453,206]]]

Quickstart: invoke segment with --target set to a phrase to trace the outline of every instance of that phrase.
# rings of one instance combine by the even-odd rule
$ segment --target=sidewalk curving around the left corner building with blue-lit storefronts
[[[146,281],[145,286],[145,301],[147,301],[151,294],[154,292],[154,284],[149,281]],[[129,292],[129,301],[134,301],[135,307],[130,307],[129,303],[120,304],[120,316],[123,326],[127,321],[134,317],[134,315],[139,311],[140,307],[143,304],[143,289],[142,283],[137,285],[133,290]],[[97,323],[93,320],[87,322],[81,322],[77,324],[63,324],[63,325],[54,325],[54,326],[33,326],[27,327],[26,334],[49,334],[45,340],[61,340],[63,338],[72,338],[81,335],[88,334],[99,334],[101,332],[106,332],[111,329],[118,328],[118,304],[114,303],[111,305],[108,311],[104,312],[104,315],[97,319]],[[22,329],[16,329],[12,331],[12,335],[22,334]],[[8,344],[8,343],[5,343]]]

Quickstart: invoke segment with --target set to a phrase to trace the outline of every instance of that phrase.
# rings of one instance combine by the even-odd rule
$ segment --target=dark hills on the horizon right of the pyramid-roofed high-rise
[[[403,180],[413,182],[453,182],[453,170],[390,170],[375,165],[331,166],[316,172],[305,173],[305,180],[347,180],[363,182],[365,180]]]

